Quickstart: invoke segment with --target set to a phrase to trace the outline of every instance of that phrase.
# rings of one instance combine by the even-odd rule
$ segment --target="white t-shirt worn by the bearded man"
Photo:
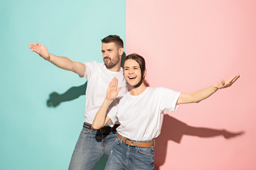
[[[127,93],[129,85],[124,79],[123,69],[120,72],[108,70],[104,63],[85,62],[85,76],[87,78],[87,89],[85,93],[85,122],[92,124],[97,111],[99,111],[104,98],[107,95],[107,87],[114,77],[118,79],[118,86],[122,87],[118,96]]]

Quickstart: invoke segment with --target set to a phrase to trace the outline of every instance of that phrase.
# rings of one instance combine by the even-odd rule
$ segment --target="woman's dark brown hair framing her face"
[[[139,68],[141,69],[142,79],[139,81],[138,84],[136,84],[134,86],[135,88],[137,88],[137,87],[139,87],[142,84],[142,82],[143,82],[143,80],[145,78],[144,77],[144,72],[146,70],[146,62],[145,62],[145,60],[144,60],[144,58],[142,56],[137,55],[135,53],[131,54],[131,55],[127,55],[127,57],[125,57],[125,59],[124,59],[124,63],[125,63],[126,60],[129,60],[129,59],[132,59],[132,60],[135,60],[136,62],[138,62],[139,63]]]

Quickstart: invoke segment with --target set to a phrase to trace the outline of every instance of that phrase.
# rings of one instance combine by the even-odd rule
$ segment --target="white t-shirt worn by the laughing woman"
[[[147,87],[139,96],[127,93],[112,101],[114,107],[107,113],[112,120],[109,125],[118,120],[117,132],[130,140],[154,139],[160,135],[164,111],[176,111],[180,94],[163,87]]]

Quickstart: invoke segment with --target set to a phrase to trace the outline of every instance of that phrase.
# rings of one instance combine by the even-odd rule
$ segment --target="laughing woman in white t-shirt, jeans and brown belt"
[[[131,91],[116,98],[121,88],[117,89],[117,79],[112,79],[105,101],[92,123],[94,129],[120,123],[105,169],[154,169],[154,138],[161,132],[163,112],[176,111],[178,104],[198,103],[239,78],[238,74],[228,81],[222,80],[201,91],[185,94],[163,87],[146,87],[143,82],[145,65],[144,58],[137,54],[125,57],[124,77]]]

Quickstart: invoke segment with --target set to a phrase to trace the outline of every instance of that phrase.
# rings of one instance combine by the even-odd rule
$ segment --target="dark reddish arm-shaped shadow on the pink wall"
[[[227,130],[217,130],[212,128],[198,128],[187,125],[186,123],[171,117],[168,114],[164,115],[163,127],[161,135],[156,138],[155,146],[155,169],[159,170],[159,166],[166,162],[166,148],[169,140],[176,143],[181,143],[183,135],[191,135],[197,137],[217,137],[223,136],[225,139],[242,135],[244,132],[228,132]]]

